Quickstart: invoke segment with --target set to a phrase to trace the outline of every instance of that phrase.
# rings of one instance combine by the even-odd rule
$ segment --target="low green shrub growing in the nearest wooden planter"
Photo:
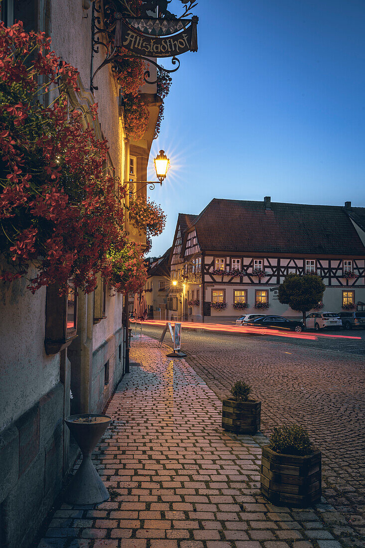
[[[303,426],[293,424],[273,428],[270,449],[284,455],[310,455],[313,453],[309,434]]]

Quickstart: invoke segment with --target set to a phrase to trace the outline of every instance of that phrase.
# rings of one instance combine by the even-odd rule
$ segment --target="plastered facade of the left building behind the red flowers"
[[[153,134],[162,101],[156,84],[146,84],[141,98],[150,112],[146,133],[129,139],[119,85],[92,50],[89,0],[2,0],[6,25],[22,20],[26,31],[45,32],[58,56],[77,67],[79,92],[69,90],[70,108],[98,115],[88,122],[109,142],[105,169],[128,184],[124,199],[129,240],[146,247],[146,234],[128,219],[129,199],[146,198],[138,181],[147,179]],[[94,69],[93,69],[94,67]],[[51,100],[51,99],[50,99]],[[33,275],[36,271],[31,271]],[[64,418],[73,413],[101,413],[126,366],[126,315],[122,294],[99,279],[93,293],[72,289],[60,297],[56,288],[33,295],[21,278],[0,282],[0,545],[27,548],[72,470],[77,448]]]

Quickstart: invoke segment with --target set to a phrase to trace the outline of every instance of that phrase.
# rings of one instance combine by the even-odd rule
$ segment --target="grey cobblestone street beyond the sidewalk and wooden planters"
[[[161,329],[144,326],[158,337]],[[355,331],[353,332],[355,333]],[[352,334],[352,332],[351,332]],[[365,534],[365,359],[265,336],[185,330],[187,362],[220,398],[236,380],[261,399],[261,430],[293,420],[322,450],[323,492]]]

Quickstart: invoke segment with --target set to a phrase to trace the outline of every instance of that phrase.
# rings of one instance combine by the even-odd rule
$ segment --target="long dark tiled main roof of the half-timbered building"
[[[214,198],[193,221],[202,250],[242,253],[362,255],[349,218],[365,226],[365,208]],[[354,219],[355,220],[355,219]],[[357,222],[357,221],[356,221]]]

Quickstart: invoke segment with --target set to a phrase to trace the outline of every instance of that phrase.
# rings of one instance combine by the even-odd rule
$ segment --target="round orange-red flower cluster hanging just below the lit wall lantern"
[[[129,206],[129,219],[139,230],[145,230],[147,236],[158,236],[165,227],[166,215],[155,202],[136,198]]]

